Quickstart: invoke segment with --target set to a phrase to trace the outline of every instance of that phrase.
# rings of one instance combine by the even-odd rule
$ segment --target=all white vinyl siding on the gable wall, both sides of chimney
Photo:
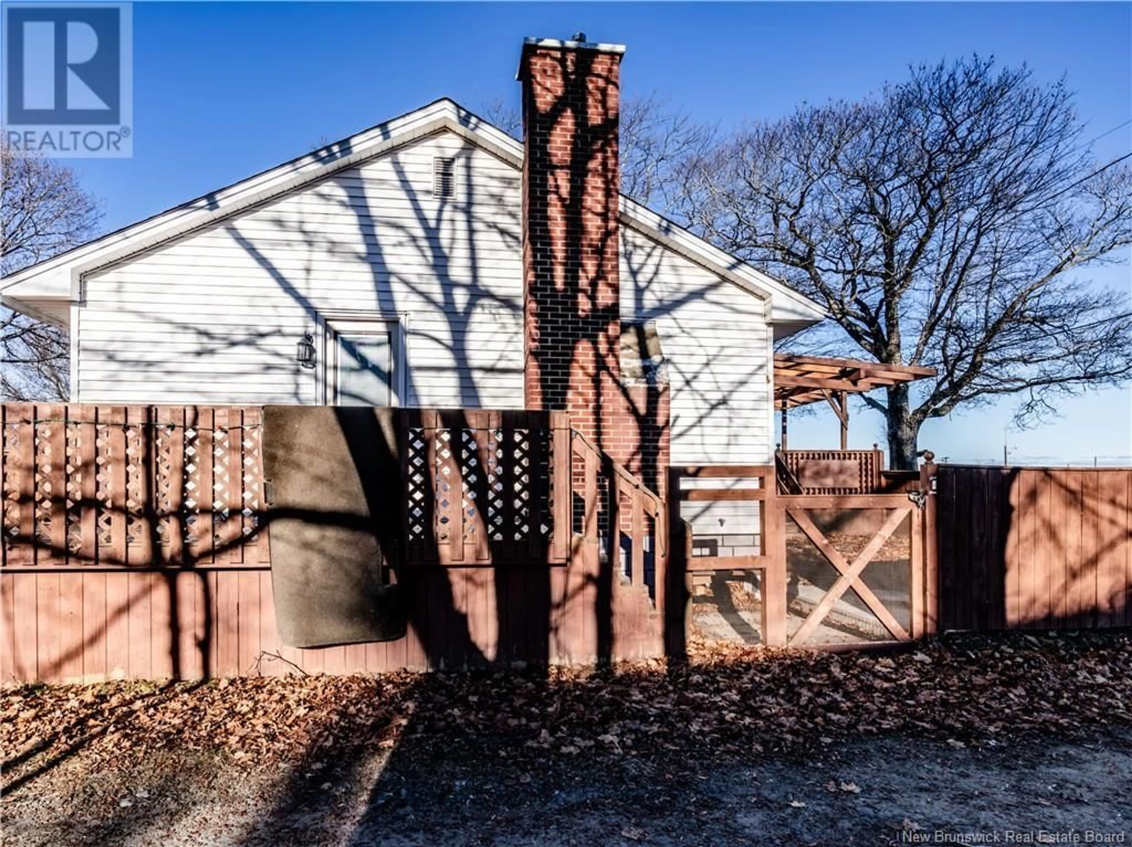
[[[456,159],[455,197],[432,196]],[[317,403],[327,320],[400,323],[405,405],[523,404],[521,174],[441,132],[88,275],[75,399]],[[767,303],[620,227],[621,313],[655,320],[675,464],[769,464]],[[311,332],[319,366],[300,368]]]

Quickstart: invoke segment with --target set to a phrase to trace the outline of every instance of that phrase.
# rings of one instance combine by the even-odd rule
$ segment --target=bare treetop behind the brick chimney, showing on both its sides
[[[495,100],[483,112],[499,129],[522,137],[523,118],[514,105]],[[619,122],[621,191],[657,211],[669,209],[681,197],[685,163],[711,148],[715,130],[696,123],[658,92],[626,97]]]

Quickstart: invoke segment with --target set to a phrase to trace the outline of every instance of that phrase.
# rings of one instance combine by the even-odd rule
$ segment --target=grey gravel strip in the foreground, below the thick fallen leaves
[[[1132,832],[1129,732],[1003,750],[884,738],[815,760],[691,768],[556,758],[513,770],[455,755],[391,771],[393,758],[309,775],[185,768],[177,757],[104,773],[71,766],[49,793],[5,803],[5,842],[877,845],[1071,832],[1127,842]]]

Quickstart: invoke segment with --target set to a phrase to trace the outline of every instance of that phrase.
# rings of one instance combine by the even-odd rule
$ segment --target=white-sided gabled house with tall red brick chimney
[[[616,120],[599,137],[590,119],[616,119],[621,50],[528,40],[525,145],[440,100],[23,269],[0,297],[70,332],[75,403],[522,408],[548,404],[532,356],[555,331],[532,292],[597,274],[617,302],[609,331],[645,327],[646,354],[663,357],[668,459],[769,464],[772,342],[823,311],[616,191],[585,205],[618,181]],[[590,145],[581,181],[556,133],[573,133],[571,155]],[[582,196],[555,200],[564,185]],[[580,228],[556,228],[578,201]],[[600,248],[594,221],[611,236]],[[580,276],[563,275],[563,250]],[[592,321],[601,295],[588,296],[569,302]],[[314,368],[297,361],[308,336]],[[642,373],[610,370],[626,386]],[[573,413],[569,391],[556,403]]]

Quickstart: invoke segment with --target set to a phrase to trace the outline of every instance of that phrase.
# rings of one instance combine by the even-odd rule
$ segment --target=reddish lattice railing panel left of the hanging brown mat
[[[2,565],[258,565],[258,408],[0,408]]]

